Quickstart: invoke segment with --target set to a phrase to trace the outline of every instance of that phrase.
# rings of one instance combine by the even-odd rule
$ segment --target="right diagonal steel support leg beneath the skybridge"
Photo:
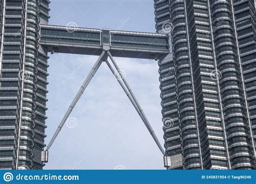
[[[117,69],[118,73],[120,73],[120,69],[119,69],[119,67],[118,67],[118,65],[117,65],[117,63],[116,63],[116,61],[114,60],[113,56],[111,55],[111,53],[110,53],[109,51],[107,51],[107,55],[109,55],[111,61],[113,62],[114,67]],[[108,63],[108,62],[106,62],[106,63]],[[108,65],[108,66],[110,66],[110,65]],[[111,68],[112,68],[112,67],[111,67]],[[111,68],[110,68],[110,69],[111,69]],[[112,68],[112,69],[113,69],[113,68]],[[113,73],[113,70],[112,70],[112,69],[111,69],[111,71],[112,71],[112,73]],[[114,73],[113,73],[113,74],[114,74]],[[131,90],[129,84],[127,83],[127,81],[126,81],[125,79],[122,79],[122,81],[124,82],[124,84],[125,84],[125,86],[126,86],[126,88],[127,88],[126,90],[128,90],[128,92],[130,93],[130,95],[131,95],[131,97],[132,97],[134,103],[136,104],[136,106],[137,106],[137,108],[138,108],[138,111],[139,111],[139,115],[140,115],[140,114],[142,115],[142,120],[143,120],[143,122],[144,122],[144,124],[145,124],[147,130],[149,130],[151,136],[153,137],[153,139],[154,139],[154,141],[156,142],[157,146],[159,147],[160,151],[165,155],[165,151],[164,151],[163,147],[161,146],[161,144],[160,144],[160,142],[159,142],[159,140],[158,140],[158,138],[157,138],[157,136],[156,136],[156,133],[154,133],[154,131],[153,131],[153,129],[152,129],[152,127],[151,127],[149,121],[147,120],[146,115],[144,114],[144,111],[142,110],[142,107],[140,107],[140,104],[139,104],[139,102],[137,101],[137,98],[135,97],[135,95],[133,94],[133,92],[132,92],[132,90]],[[119,82],[119,83],[120,83],[120,82]],[[122,84],[120,84],[120,85],[121,85],[121,87],[123,88],[123,85],[122,85]],[[124,89],[124,88],[123,88],[123,89]],[[125,90],[125,91],[126,91],[126,90]],[[129,97],[130,95],[127,95],[127,96]],[[130,97],[129,97],[129,99],[130,99]],[[131,102],[132,102],[132,101],[131,101]],[[133,102],[132,102],[132,104],[133,104]],[[134,106],[134,105],[133,105],[133,106]],[[135,107],[135,106],[134,106],[134,107]],[[136,107],[135,107],[135,108],[136,108]],[[136,108],[136,110],[137,110],[137,108]]]

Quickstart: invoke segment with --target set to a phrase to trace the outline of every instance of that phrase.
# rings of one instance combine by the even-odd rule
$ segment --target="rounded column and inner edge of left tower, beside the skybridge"
[[[47,53],[39,45],[40,24],[48,22],[48,1],[23,1],[22,63],[19,70],[19,121],[17,124],[18,169],[42,169],[41,151],[44,148]],[[43,8],[44,11],[41,11]],[[18,158],[19,157],[19,158]]]

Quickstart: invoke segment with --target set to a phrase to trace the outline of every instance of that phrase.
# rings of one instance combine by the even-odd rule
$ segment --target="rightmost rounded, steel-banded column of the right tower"
[[[253,168],[250,118],[240,66],[232,2],[211,2],[214,47],[232,169]],[[235,37],[234,37],[235,36]]]

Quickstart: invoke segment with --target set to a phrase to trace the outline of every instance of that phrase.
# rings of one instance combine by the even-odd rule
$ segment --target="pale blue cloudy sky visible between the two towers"
[[[52,0],[51,25],[156,32],[153,0]],[[127,21],[128,20],[128,21]],[[97,56],[50,54],[48,144]],[[115,58],[164,145],[157,61]],[[49,150],[45,169],[164,169],[142,119],[102,63]]]

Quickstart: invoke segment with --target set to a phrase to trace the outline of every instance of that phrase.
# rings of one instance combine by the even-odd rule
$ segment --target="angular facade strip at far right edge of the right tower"
[[[235,25],[237,30],[237,40],[241,58],[242,74],[244,75],[244,84],[248,110],[250,112],[252,137],[255,145],[256,134],[256,11],[255,4],[252,1],[237,1],[233,3]],[[255,146],[254,146],[255,147]]]

